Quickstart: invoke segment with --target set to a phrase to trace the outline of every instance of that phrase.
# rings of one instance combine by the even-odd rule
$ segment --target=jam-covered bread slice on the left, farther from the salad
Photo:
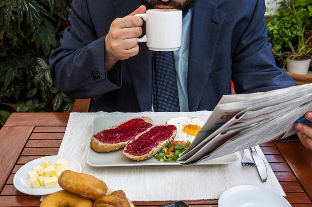
[[[135,138],[138,134],[141,134],[152,126],[153,120],[149,117],[134,118],[122,122],[118,126],[96,133],[92,136],[90,146],[96,152],[118,150],[125,147],[131,139]],[[112,134],[109,135],[109,133]],[[116,134],[116,136],[114,134]],[[116,140],[114,140],[115,138]]]

